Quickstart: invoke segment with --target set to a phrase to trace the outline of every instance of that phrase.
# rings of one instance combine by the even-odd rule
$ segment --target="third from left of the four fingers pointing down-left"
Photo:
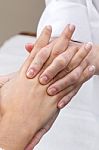
[[[70,74],[64,78],[56,81],[54,84],[48,87],[47,92],[49,95],[53,96],[59,93],[60,91],[66,89],[67,87],[75,84],[80,79],[80,76],[83,72],[82,67],[77,67]]]

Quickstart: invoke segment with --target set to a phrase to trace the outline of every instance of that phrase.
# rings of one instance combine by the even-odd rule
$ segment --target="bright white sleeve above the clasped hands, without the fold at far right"
[[[60,35],[66,24],[76,25],[73,39],[81,42],[91,41],[90,23],[86,0],[46,0],[47,6],[38,24],[37,34],[46,25],[53,28],[52,36]]]

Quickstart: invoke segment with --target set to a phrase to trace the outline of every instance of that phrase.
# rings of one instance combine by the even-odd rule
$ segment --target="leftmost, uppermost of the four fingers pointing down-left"
[[[48,46],[42,48],[37,53],[37,55],[35,56],[35,58],[33,59],[32,63],[31,63],[31,65],[29,66],[29,68],[27,70],[26,75],[27,75],[28,78],[32,79],[42,69],[43,65],[45,64],[45,62],[50,57],[52,47],[53,47],[53,44],[51,43]]]

